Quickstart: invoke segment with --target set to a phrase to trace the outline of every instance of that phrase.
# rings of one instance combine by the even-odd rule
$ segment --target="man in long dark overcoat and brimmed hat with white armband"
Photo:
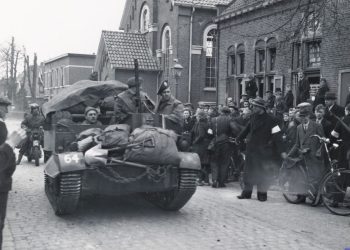
[[[261,98],[251,102],[252,115],[237,139],[246,140],[246,164],[243,174],[244,189],[238,199],[250,199],[257,185],[259,201],[267,200],[267,191],[273,173],[285,158],[281,129],[278,120],[266,113],[266,103]]]

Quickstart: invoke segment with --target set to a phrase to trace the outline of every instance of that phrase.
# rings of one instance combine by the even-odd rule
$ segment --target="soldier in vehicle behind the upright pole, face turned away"
[[[140,113],[151,113],[154,110],[154,104],[151,98],[147,96],[147,94],[141,91],[141,84],[143,83],[143,79],[139,78],[140,85]],[[137,112],[137,82],[135,77],[131,77],[127,81],[128,89],[121,92],[114,104],[114,115],[111,120],[111,124],[113,123],[123,123],[129,117],[131,113]]]

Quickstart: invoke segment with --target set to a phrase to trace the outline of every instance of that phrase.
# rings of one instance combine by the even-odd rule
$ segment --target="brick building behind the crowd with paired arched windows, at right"
[[[229,96],[238,101],[251,74],[261,97],[287,84],[296,94],[298,72],[303,72],[312,95],[323,77],[344,104],[350,86],[350,32],[337,32],[330,10],[319,15],[319,5],[307,2],[236,0],[219,13],[219,103]],[[349,26],[349,3],[338,2],[339,20]]]

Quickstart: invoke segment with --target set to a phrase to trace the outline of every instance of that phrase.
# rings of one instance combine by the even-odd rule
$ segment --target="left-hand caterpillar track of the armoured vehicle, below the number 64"
[[[73,213],[79,203],[81,174],[64,173],[56,178],[45,174],[45,193],[56,215]]]

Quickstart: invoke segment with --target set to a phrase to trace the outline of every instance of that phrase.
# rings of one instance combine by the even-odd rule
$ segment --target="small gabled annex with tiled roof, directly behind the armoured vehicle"
[[[144,80],[143,91],[156,100],[159,67],[150,52],[145,35],[102,31],[95,62],[98,80],[126,83],[130,77],[135,76],[134,59],[138,59],[139,76]]]

